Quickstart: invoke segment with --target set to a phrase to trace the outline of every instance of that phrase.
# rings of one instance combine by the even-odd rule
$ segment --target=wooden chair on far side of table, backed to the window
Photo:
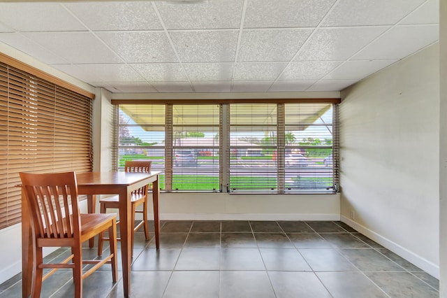
[[[147,173],[151,170],[151,164],[152,162],[149,160],[126,160],[126,163],[124,164],[124,171],[126,172],[140,172],[140,173]],[[149,227],[147,226],[147,191],[149,190],[149,185],[145,185],[143,187],[140,187],[138,190],[135,190],[135,192],[132,192],[131,195],[131,206],[132,206],[132,227],[133,233],[132,233],[132,256],[133,256],[133,241],[135,239],[135,232],[140,229],[140,227],[144,228],[145,231],[145,239],[149,240]],[[119,196],[113,196],[113,197],[107,197],[105,199],[99,200],[100,204],[100,211],[101,213],[106,213],[107,208],[119,208]],[[137,210],[137,207],[142,205],[142,210]],[[142,213],[142,221],[138,223],[138,225],[135,227],[135,215],[136,213]],[[119,222],[117,222],[119,224]],[[98,255],[101,255],[103,250],[103,240],[106,240],[107,238],[104,238],[103,233],[99,235],[98,240]],[[121,239],[117,239],[118,241],[121,241]]]

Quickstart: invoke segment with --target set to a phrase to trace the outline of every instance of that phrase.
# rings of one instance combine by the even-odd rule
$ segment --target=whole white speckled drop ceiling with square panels
[[[439,40],[439,0],[0,0],[0,42],[128,92],[339,91]]]

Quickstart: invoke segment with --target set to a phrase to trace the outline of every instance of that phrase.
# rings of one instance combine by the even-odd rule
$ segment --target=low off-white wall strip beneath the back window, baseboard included
[[[149,212],[152,213],[152,207]],[[339,194],[160,194],[162,220],[339,220]]]

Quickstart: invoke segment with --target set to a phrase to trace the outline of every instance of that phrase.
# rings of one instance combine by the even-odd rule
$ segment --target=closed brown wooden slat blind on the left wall
[[[91,171],[91,99],[0,62],[0,229],[20,222],[18,173]]]

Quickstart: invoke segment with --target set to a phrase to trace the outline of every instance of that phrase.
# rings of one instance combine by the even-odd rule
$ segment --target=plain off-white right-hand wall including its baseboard
[[[339,115],[342,220],[439,277],[439,44],[343,90]]]

